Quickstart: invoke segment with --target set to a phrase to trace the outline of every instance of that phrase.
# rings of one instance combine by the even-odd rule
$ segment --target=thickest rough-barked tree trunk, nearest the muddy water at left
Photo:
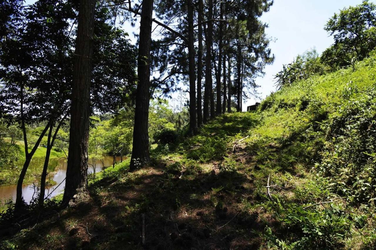
[[[73,68],[72,104],[67,178],[63,203],[86,192],[90,116],[91,57],[93,54],[95,0],[80,0]]]

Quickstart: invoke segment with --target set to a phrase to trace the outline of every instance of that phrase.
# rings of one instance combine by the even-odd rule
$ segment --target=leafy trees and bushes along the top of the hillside
[[[277,87],[352,66],[369,56],[376,47],[376,5],[367,0],[334,14],[324,28],[334,37],[334,44],[321,56],[316,50],[306,51],[292,63],[283,65],[276,75]]]

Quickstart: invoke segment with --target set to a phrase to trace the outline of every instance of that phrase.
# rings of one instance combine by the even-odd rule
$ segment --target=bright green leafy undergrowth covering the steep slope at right
[[[362,233],[374,226],[376,194],[376,57],[371,54],[354,65],[355,71],[295,81],[262,102],[262,125],[252,130],[252,140],[278,151],[258,152],[259,166],[279,170],[273,179],[285,187],[297,181],[293,175],[307,176],[296,184],[293,197],[274,196],[273,209],[287,233],[277,236],[278,230],[268,229],[272,245],[316,249],[373,241],[373,231]],[[326,201],[333,202],[323,208],[303,205]]]

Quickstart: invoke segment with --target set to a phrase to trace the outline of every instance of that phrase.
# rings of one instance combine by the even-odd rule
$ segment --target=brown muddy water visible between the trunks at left
[[[125,160],[126,157],[123,157],[123,160]],[[88,164],[88,173],[94,172],[95,166],[95,172],[98,173],[103,170],[103,167],[109,167],[112,166],[113,158],[112,156],[105,156],[102,161],[96,161],[95,165],[92,164],[92,162],[89,162]],[[120,162],[121,157],[116,157],[116,162]],[[104,165],[104,166],[103,166]],[[45,197],[52,198],[58,194],[61,194],[64,192],[65,187],[65,176],[67,175],[67,161],[65,159],[59,160],[59,165],[56,169],[56,172],[53,176],[50,176],[50,180],[53,180],[56,182],[55,185],[49,186],[45,189]],[[17,185],[1,185],[0,186],[0,201],[5,202],[9,199],[16,199],[16,187]],[[22,196],[26,203],[30,203],[30,201],[37,196],[37,193],[34,191],[34,185],[33,184],[24,184],[22,186]]]

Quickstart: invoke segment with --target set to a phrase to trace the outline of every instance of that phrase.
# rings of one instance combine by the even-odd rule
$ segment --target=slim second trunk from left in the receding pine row
[[[202,13],[203,13],[203,0],[199,0],[198,11],[198,40],[199,48],[197,51],[197,126],[202,125]]]

